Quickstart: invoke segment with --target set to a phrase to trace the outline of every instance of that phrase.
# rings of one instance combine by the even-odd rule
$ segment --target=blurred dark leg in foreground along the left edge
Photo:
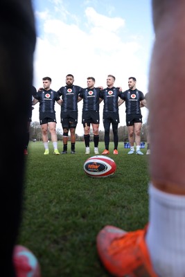
[[[33,83],[35,20],[29,0],[0,1],[1,277],[15,276],[12,253],[21,222],[24,143]]]

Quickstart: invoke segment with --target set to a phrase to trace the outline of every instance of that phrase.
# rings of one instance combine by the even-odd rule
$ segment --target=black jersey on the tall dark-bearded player
[[[78,94],[82,91],[82,87],[72,85],[71,87],[60,87],[58,94],[62,96],[61,112],[78,111]]]

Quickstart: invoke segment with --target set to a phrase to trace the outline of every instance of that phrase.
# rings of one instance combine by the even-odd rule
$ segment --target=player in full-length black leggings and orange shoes
[[[101,101],[104,100],[103,106],[103,126],[105,129],[105,150],[103,155],[109,154],[109,131],[112,123],[112,132],[114,134],[114,152],[118,154],[118,97],[121,96],[121,88],[114,87],[116,78],[113,75],[107,76],[107,88],[100,91]]]

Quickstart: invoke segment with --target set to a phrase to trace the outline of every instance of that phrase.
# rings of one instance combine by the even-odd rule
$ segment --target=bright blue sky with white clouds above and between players
[[[128,89],[127,79],[136,77],[136,88],[148,91],[150,55],[154,40],[150,0],[33,0],[37,44],[33,84],[42,87],[42,78],[52,79],[51,88],[65,85],[68,73],[74,84],[87,87],[87,77],[96,86],[107,87],[107,75],[116,77],[115,87]],[[57,128],[60,106],[55,104]],[[103,102],[100,129],[103,130]],[[125,125],[125,103],[119,109],[120,125]],[[143,123],[148,111],[142,108]],[[78,103],[76,132],[83,134],[82,101]],[[33,109],[39,121],[39,103]]]

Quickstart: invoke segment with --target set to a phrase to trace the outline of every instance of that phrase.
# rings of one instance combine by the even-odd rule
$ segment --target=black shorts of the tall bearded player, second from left
[[[76,128],[78,123],[78,111],[62,111],[61,123],[63,129]]]

